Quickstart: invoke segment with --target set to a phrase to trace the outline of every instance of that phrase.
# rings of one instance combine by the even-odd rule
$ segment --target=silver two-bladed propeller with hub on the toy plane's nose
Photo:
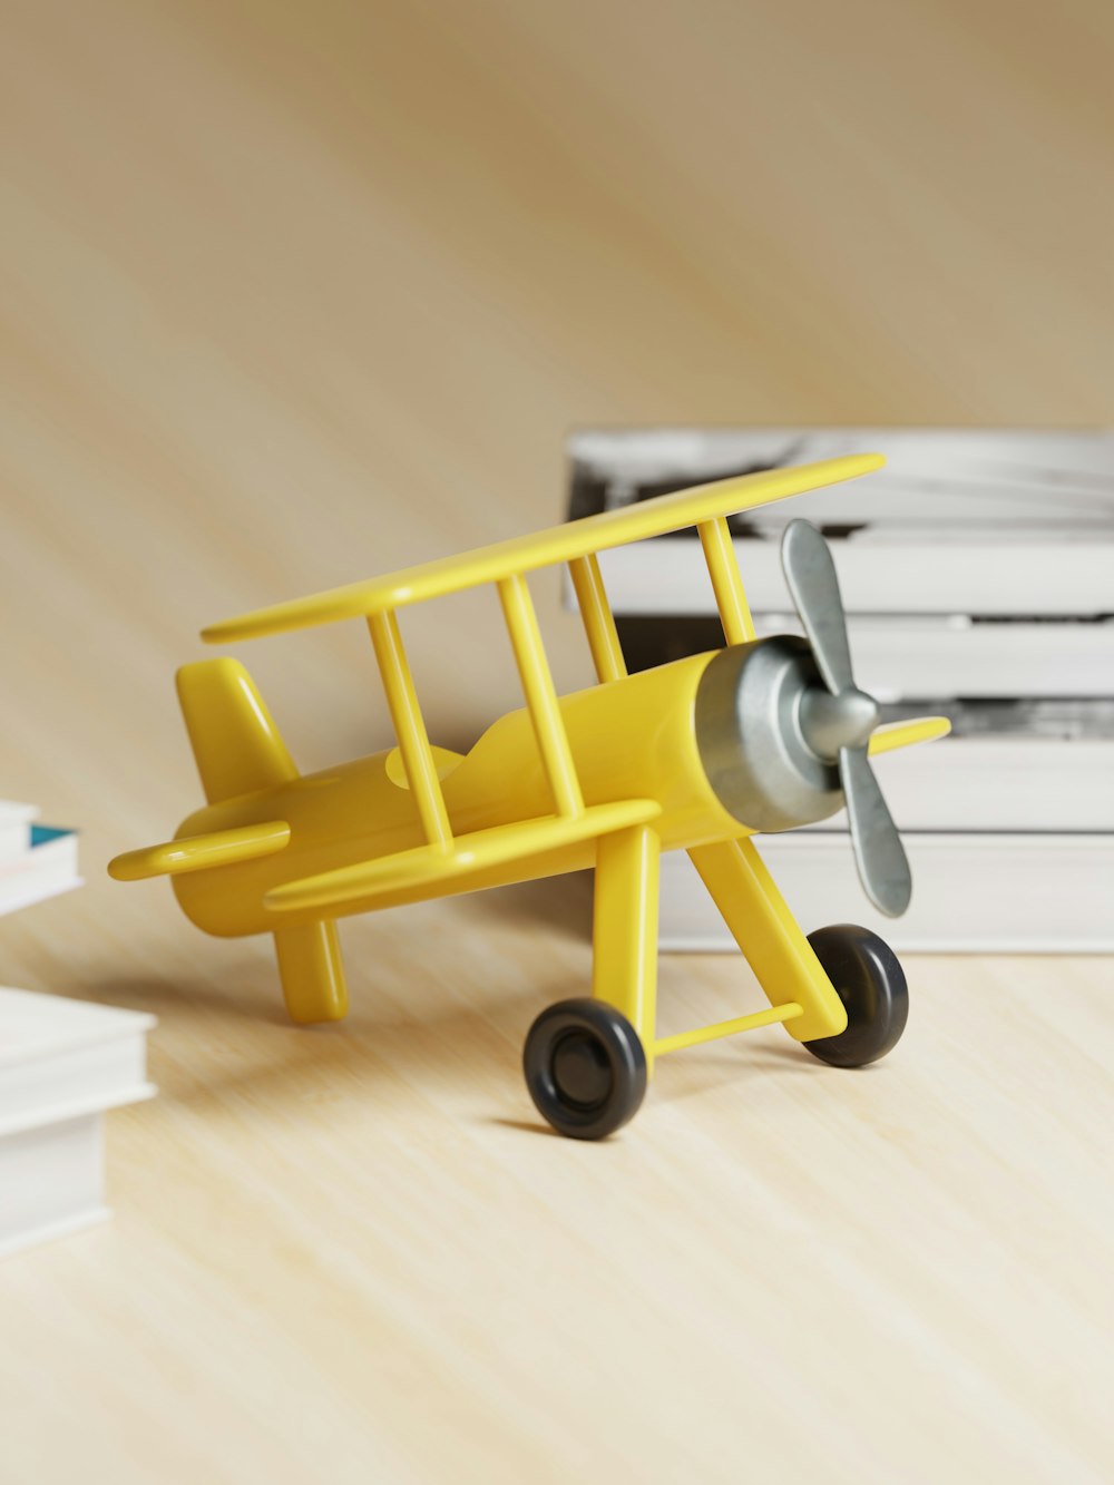
[[[827,542],[808,521],[790,521],[781,566],[796,612],[827,689],[801,699],[801,731],[810,748],[836,763],[851,824],[859,879],[875,907],[890,918],[909,906],[909,861],[866,753],[878,725],[878,702],[854,683],[847,618]]]

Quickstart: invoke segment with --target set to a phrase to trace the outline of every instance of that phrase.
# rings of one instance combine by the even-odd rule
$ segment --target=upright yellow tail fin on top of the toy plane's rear
[[[202,659],[183,665],[177,683],[211,805],[299,777],[254,680],[239,661]]]

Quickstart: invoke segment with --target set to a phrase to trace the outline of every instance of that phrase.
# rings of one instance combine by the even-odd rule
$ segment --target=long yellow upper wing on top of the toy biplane
[[[654,500],[642,500],[616,511],[585,515],[579,521],[566,521],[548,532],[514,536],[460,555],[438,557],[417,567],[389,573],[386,578],[352,582],[345,588],[331,588],[309,598],[257,609],[254,613],[211,624],[202,630],[202,639],[211,644],[223,644],[230,640],[282,634],[315,624],[383,613],[408,603],[460,593],[481,582],[499,582],[515,573],[532,572],[535,567],[548,567],[551,563],[575,561],[648,536],[665,536],[668,532],[679,532],[701,521],[784,500],[790,495],[839,484],[879,469],[884,463],[881,454],[850,454],[811,465],[740,475],[734,480],[717,480],[713,484],[679,490],[676,495],[661,495]]]

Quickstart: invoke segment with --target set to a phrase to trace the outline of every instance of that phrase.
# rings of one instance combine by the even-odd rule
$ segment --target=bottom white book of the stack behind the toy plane
[[[902,918],[866,900],[845,835],[804,830],[755,843],[805,933],[861,924],[906,953],[1114,950],[1114,836],[909,832],[903,841],[913,900]],[[659,943],[735,949],[683,851],[661,861]]]

